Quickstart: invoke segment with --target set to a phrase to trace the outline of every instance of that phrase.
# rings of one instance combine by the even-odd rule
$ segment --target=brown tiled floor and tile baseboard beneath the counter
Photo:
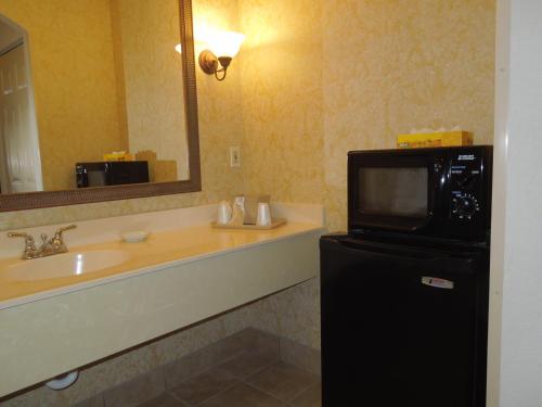
[[[249,328],[77,407],[319,406],[320,352]]]

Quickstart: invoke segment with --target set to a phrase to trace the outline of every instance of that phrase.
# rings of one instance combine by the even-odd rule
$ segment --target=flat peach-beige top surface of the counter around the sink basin
[[[35,262],[36,267],[39,267],[40,259],[4,258],[0,259],[0,309],[321,230],[319,225],[300,222],[287,222],[270,230],[214,229],[203,225],[155,232],[140,243],[117,240],[75,246],[69,249],[70,253],[122,251],[129,255],[129,259],[93,272],[46,280],[17,281],[7,278],[7,270],[11,266]]]

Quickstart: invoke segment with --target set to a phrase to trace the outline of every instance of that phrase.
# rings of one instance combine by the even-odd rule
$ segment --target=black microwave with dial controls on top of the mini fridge
[[[348,231],[487,241],[492,147],[348,153]]]

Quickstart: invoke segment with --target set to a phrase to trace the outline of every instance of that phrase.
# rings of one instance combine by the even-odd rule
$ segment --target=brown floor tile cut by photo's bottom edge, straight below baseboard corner
[[[286,405],[245,383],[222,392],[199,407],[285,407]]]

